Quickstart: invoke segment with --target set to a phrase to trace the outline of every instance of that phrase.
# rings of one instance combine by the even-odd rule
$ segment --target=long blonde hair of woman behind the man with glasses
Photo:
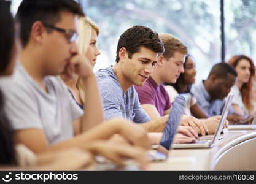
[[[96,25],[89,17],[79,17],[79,26],[78,26],[78,51],[80,55],[85,55],[87,49],[90,45],[91,33],[93,29],[96,31],[97,36],[99,35],[99,26]],[[85,104],[85,86],[83,80],[79,77],[77,80],[77,89],[79,91],[79,96],[82,101],[82,104]]]

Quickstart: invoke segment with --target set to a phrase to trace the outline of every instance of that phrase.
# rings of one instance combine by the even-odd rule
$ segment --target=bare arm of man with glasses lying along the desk
[[[34,151],[34,153],[42,153],[44,151],[56,151],[63,148],[82,148],[88,142],[95,140],[106,140],[114,134],[120,134],[133,145],[142,148],[148,148],[149,142],[146,131],[141,126],[125,121],[122,119],[113,119],[102,123],[101,125],[91,128],[89,131],[65,140],[57,144],[49,145],[47,137],[42,129],[26,129],[15,132],[15,140],[17,143],[25,144],[26,147]]]

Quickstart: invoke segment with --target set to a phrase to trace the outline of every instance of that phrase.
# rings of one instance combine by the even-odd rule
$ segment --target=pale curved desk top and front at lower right
[[[212,148],[173,149],[149,170],[256,170],[256,131],[225,131]]]

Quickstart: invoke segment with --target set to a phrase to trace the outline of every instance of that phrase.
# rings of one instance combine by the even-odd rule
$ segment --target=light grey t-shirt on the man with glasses
[[[14,130],[42,129],[49,144],[55,144],[74,136],[72,121],[83,111],[59,77],[45,77],[44,83],[48,93],[18,63],[12,77],[0,80],[0,88]]]

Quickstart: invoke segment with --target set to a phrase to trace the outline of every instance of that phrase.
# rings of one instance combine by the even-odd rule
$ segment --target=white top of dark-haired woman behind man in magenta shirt
[[[169,94],[171,103],[173,103],[175,98],[178,96],[177,91],[175,90],[175,88],[173,86],[170,86],[170,85],[166,85],[165,89],[166,89],[167,93]],[[186,101],[186,106],[184,108],[183,113],[185,115],[191,116],[190,107],[192,107],[193,105],[196,104],[196,98],[193,97],[192,94],[190,94],[190,93],[181,93],[180,95],[184,96],[185,101]]]

